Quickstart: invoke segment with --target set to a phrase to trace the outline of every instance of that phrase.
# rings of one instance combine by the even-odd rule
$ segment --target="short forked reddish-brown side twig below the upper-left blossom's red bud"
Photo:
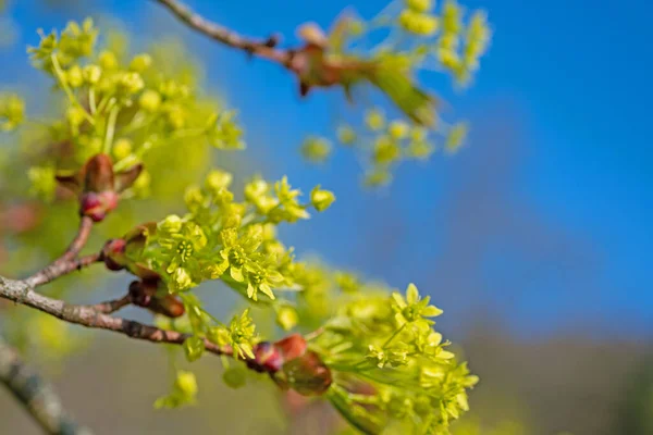
[[[65,252],[52,263],[26,278],[25,282],[30,287],[37,287],[39,285],[47,284],[61,275],[65,275],[75,270],[86,268],[91,263],[101,261],[102,256],[100,253],[76,259],[82,248],[84,248],[86,245],[91,228],[93,220],[88,216],[82,216],[82,220],[79,221],[79,229],[77,231],[75,238],[73,241],[71,241]]]

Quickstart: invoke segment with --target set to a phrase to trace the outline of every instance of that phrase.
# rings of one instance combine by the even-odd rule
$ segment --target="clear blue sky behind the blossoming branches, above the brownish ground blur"
[[[17,49],[26,65],[30,30],[63,27],[78,10],[15,2]],[[189,1],[207,17],[249,35],[279,32],[293,42],[303,21],[328,26],[350,1]],[[353,2],[370,16],[385,2]],[[381,192],[358,188],[354,156],[338,150],[324,167],[297,153],[304,134],[328,134],[342,98],[300,101],[276,65],[247,61],[185,30],[155,2],[102,0],[144,41],[181,33],[207,66],[207,80],[241,110],[246,151],[273,177],[305,191],[336,191],[330,212],[288,228],[299,252],[404,287],[415,282],[455,330],[479,313],[525,337],[558,331],[650,338],[653,334],[653,158],[650,102],[653,7],[642,1],[461,1],[485,8],[494,27],[475,86],[452,91],[422,78],[469,119],[468,146],[455,157],[407,163]],[[95,11],[95,10],[94,10]],[[97,12],[97,11],[96,11]],[[0,71],[19,84],[23,69]],[[254,170],[252,170],[254,171]],[[447,320],[448,319],[448,320]]]

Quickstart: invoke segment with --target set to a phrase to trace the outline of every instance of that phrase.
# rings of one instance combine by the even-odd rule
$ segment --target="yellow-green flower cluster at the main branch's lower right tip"
[[[390,301],[359,295],[310,341],[334,374],[329,399],[354,426],[370,434],[448,434],[469,409],[467,389],[478,377],[433,330],[431,318],[441,313],[412,284]]]

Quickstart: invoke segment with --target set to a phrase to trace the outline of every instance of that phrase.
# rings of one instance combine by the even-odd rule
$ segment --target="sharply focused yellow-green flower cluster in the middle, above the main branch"
[[[171,293],[183,293],[207,279],[226,285],[258,301],[270,302],[273,289],[295,285],[292,250],[276,238],[282,222],[309,217],[307,209],[325,210],[334,200],[319,186],[311,202],[298,200],[286,177],[271,185],[255,178],[244,188],[244,201],[230,190],[232,175],[223,171],[208,174],[205,185],[186,191],[188,213],[170,215],[157,225],[139,252],[148,268],[168,283]]]

